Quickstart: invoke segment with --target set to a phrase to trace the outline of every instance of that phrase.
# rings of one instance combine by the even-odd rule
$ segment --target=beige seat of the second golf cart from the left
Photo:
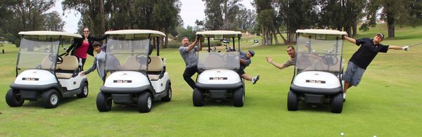
[[[148,77],[151,80],[158,80],[162,77],[165,71],[162,59],[160,56],[150,56],[151,63],[148,65]]]

